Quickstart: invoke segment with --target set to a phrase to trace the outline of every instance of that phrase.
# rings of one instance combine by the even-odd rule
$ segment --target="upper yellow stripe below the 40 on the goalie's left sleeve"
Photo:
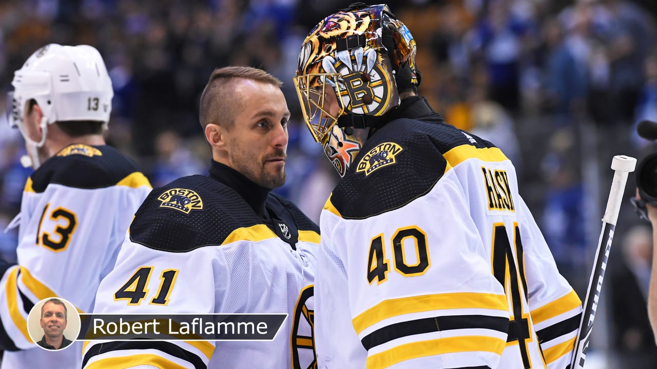
[[[356,330],[356,334],[360,334],[365,328],[392,316],[442,309],[493,309],[509,311],[509,303],[507,303],[507,297],[505,295],[476,292],[439,293],[436,295],[401,297],[399,299],[381,301],[353,318],[351,322],[353,328]]]

